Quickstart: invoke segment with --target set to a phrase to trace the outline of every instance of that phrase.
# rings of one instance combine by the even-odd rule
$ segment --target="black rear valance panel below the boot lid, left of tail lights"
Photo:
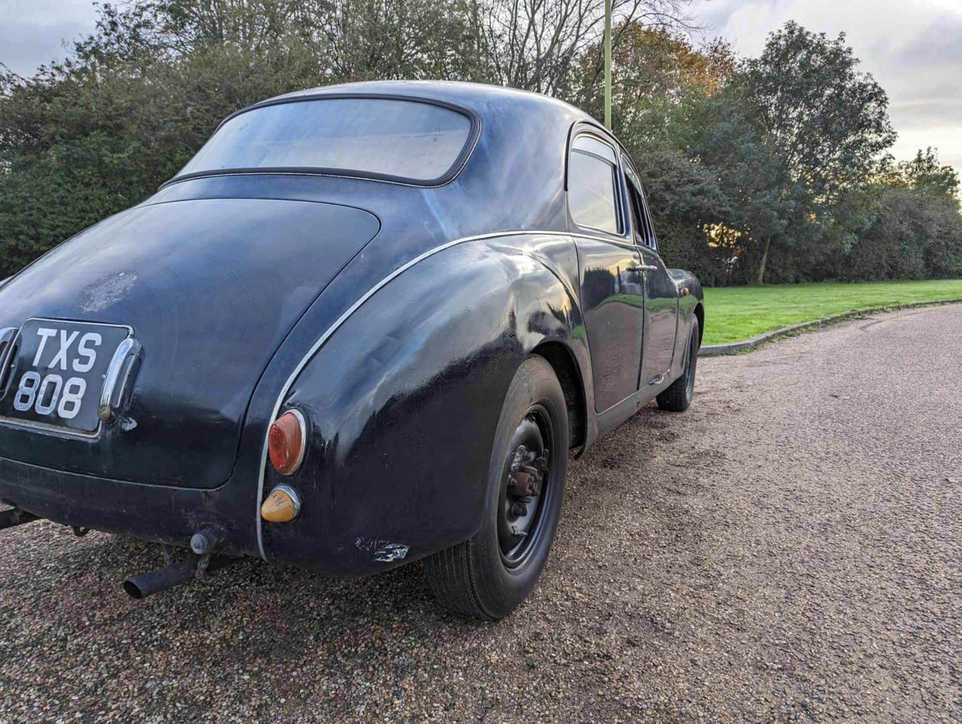
[[[64,472],[0,458],[0,502],[64,525],[188,545],[206,524],[226,533],[225,552],[260,556],[257,494],[232,479],[213,489],[155,486]]]

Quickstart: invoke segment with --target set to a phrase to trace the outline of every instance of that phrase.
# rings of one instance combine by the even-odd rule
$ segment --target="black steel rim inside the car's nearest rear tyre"
[[[540,547],[554,494],[551,451],[554,428],[544,406],[524,413],[508,444],[501,470],[497,541],[501,562],[518,568]]]

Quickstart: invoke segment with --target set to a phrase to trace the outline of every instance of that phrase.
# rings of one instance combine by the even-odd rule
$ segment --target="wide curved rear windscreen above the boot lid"
[[[220,126],[181,169],[341,171],[418,183],[455,170],[468,145],[467,114],[418,101],[315,98],[254,108]]]

